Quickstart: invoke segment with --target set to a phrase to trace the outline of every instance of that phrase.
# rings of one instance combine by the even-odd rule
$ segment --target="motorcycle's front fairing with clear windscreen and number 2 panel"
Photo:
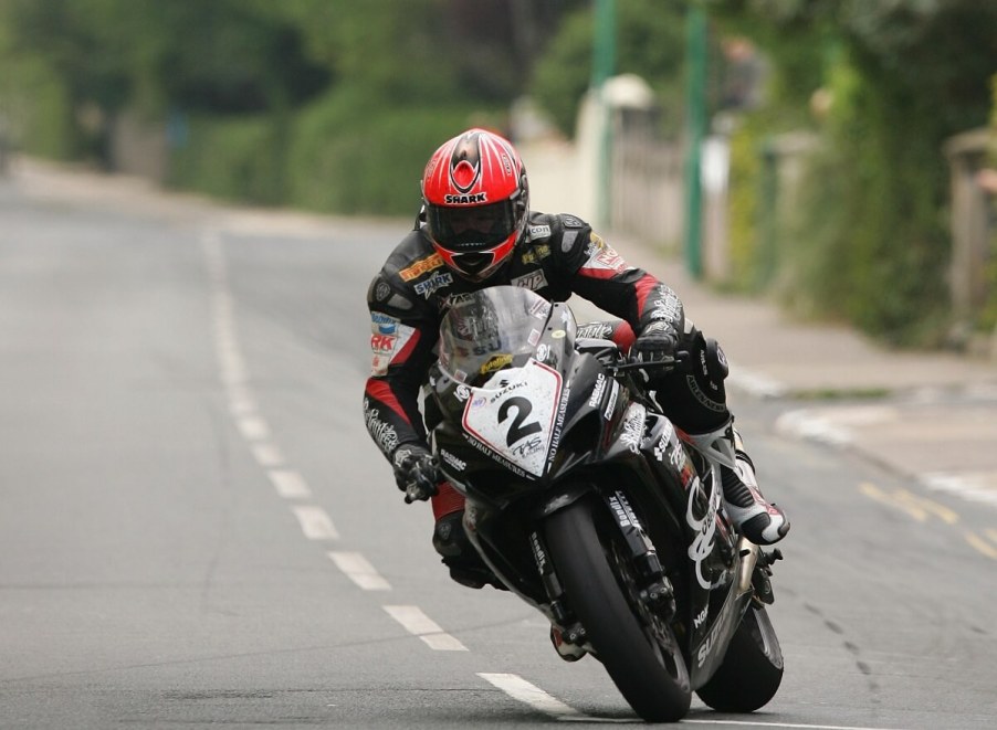
[[[502,482],[524,487],[547,477],[558,452],[573,400],[576,324],[565,305],[526,289],[485,293],[468,305],[476,307],[472,321],[444,317],[430,377],[442,415],[432,438],[458,486],[475,476],[487,484],[498,469]]]

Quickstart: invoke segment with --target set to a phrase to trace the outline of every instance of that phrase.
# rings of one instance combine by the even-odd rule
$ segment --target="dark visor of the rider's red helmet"
[[[505,241],[516,230],[511,200],[489,205],[427,205],[429,234],[437,245],[455,253],[473,253]]]

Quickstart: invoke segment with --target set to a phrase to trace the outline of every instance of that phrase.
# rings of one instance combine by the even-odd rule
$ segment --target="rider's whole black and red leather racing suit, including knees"
[[[374,359],[364,393],[364,416],[371,438],[389,462],[405,445],[428,447],[419,395],[435,360],[440,322],[450,297],[486,286],[524,286],[554,301],[578,294],[623,320],[595,327],[602,327],[604,336],[611,334],[625,350],[634,332],[651,322],[667,324],[679,338],[679,349],[690,352],[693,362],[703,363],[692,368],[692,373],[675,370],[655,379],[653,388],[659,402],[668,404],[667,415],[691,432],[710,431],[730,420],[723,389],[726,363],[715,342],[707,348],[702,335],[686,322],[682,303],[670,287],[630,266],[587,223],[567,214],[531,212],[512,257],[484,283],[469,282],[448,268],[422,229],[417,222],[367,294]],[[584,329],[579,335],[595,334]],[[432,505],[439,525],[445,516],[463,509],[463,498],[444,484]],[[439,537],[433,543],[453,574],[453,561],[448,561]]]

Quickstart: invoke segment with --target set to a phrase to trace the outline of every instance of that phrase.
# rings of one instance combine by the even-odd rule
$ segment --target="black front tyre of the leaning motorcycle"
[[[675,635],[638,596],[629,551],[615,523],[579,500],[546,522],[547,548],[568,603],[620,692],[644,720],[689,711],[689,671]]]

